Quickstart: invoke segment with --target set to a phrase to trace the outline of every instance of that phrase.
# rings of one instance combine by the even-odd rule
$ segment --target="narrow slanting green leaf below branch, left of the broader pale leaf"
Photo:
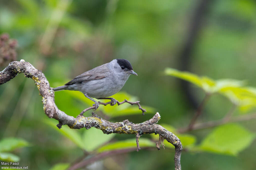
[[[78,129],[70,129],[68,126],[62,126],[61,129],[59,129],[56,126],[57,125],[56,120],[52,120],[52,119],[45,119],[44,123],[46,123],[47,125],[50,125],[56,131],[61,133],[61,135],[70,139],[72,142],[74,142],[81,149],[85,149],[85,145],[83,143],[83,140],[82,140],[80,134],[77,131]]]

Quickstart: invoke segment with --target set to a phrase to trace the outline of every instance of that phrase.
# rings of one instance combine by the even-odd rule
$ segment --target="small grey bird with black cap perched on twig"
[[[132,65],[128,60],[113,59],[109,63],[82,73],[67,82],[64,86],[56,87],[53,90],[80,91],[96,105],[98,102],[92,98],[110,99],[114,105],[116,104],[116,100],[107,97],[119,92],[131,74],[138,76],[137,73],[133,71]],[[99,104],[96,107],[99,107]]]

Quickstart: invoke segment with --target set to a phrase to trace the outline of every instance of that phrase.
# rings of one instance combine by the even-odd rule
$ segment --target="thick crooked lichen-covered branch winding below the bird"
[[[92,114],[90,117],[84,117],[83,115],[78,115],[76,118],[69,116],[66,113],[58,109],[54,101],[54,91],[50,87],[48,80],[41,70],[37,70],[33,65],[24,60],[20,62],[15,61],[9,63],[9,65],[0,72],[0,85],[11,80],[18,73],[24,73],[25,77],[31,78],[35,81],[35,84],[39,90],[39,95],[42,96],[43,109],[45,114],[49,118],[54,118],[59,121],[57,125],[61,128],[62,125],[68,125],[73,129],[91,127],[98,128],[103,131],[103,133],[125,133],[125,134],[134,134],[137,137],[143,134],[156,133],[159,134],[163,139],[166,139],[168,142],[172,143],[175,146],[175,156],[174,163],[175,169],[181,169],[180,165],[180,156],[182,152],[182,144],[177,136],[172,132],[169,132],[165,128],[156,123],[160,119],[159,113],[156,113],[153,118],[147,120],[143,123],[134,124],[129,122],[129,120],[124,120],[123,122],[109,122],[99,117],[96,114]],[[139,147],[139,146],[138,146]]]

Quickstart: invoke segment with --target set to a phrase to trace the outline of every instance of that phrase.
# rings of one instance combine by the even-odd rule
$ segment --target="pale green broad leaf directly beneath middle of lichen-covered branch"
[[[104,134],[100,129],[90,128],[84,130],[83,143],[87,151],[93,151],[100,145],[110,141],[115,136],[114,133]]]

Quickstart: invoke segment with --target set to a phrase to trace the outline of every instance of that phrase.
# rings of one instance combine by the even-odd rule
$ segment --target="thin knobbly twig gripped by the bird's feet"
[[[111,98],[100,98],[100,99],[111,99]],[[129,103],[129,104],[131,104],[131,105],[136,104],[136,105],[139,106],[139,109],[142,111],[142,115],[144,115],[144,112],[147,112],[146,109],[143,109],[143,108],[141,107],[140,101],[130,102],[130,101],[127,101],[126,99],[124,99],[124,101],[122,101],[122,102],[119,102],[119,101],[116,100],[116,103],[117,103],[118,105],[124,104],[124,103]],[[97,110],[97,108],[99,107],[100,104],[102,104],[102,105],[104,105],[104,106],[106,106],[106,105],[108,105],[108,104],[110,104],[111,106],[115,105],[112,101],[107,102],[107,103],[98,102],[98,104],[93,104],[93,106],[84,109],[79,115],[83,115],[85,112],[87,112],[88,110],[91,110],[91,109],[93,109],[94,111]]]

